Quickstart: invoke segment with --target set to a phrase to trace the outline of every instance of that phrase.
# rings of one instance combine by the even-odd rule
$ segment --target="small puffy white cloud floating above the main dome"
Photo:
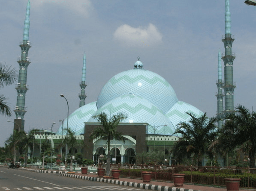
[[[162,42],[162,34],[153,24],[145,28],[124,24],[114,32],[114,39],[124,46],[152,47]]]

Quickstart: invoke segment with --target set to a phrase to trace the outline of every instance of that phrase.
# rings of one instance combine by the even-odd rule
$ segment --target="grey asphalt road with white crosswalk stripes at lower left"
[[[75,179],[61,174],[36,173],[27,170],[0,167],[0,191],[28,190],[90,190],[90,191],[137,191],[144,190],[105,182]]]

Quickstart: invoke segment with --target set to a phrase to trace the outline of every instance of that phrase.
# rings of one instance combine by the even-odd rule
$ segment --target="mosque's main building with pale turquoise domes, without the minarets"
[[[93,128],[100,126],[92,116],[101,112],[108,116],[122,112],[127,116],[117,127],[117,131],[125,136],[125,143],[112,140],[110,146],[111,159],[119,163],[133,163],[136,153],[151,150],[165,150],[166,158],[169,157],[172,145],[178,141],[178,135],[174,135],[175,127],[190,119],[186,112],[196,116],[203,114],[196,107],[178,100],[169,82],[157,73],[145,70],[139,59],[133,69],[109,79],[95,102],[81,106],[69,115],[68,127],[77,136],[84,135],[84,148],[80,152],[95,161],[100,154],[107,154],[106,140],[89,140]],[[56,135],[66,135],[63,130],[66,126],[67,119]]]

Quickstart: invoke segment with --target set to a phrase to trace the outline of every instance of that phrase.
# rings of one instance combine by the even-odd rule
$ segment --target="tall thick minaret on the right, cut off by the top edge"
[[[232,43],[235,39],[231,35],[231,19],[229,12],[229,0],[226,0],[225,11],[225,38],[222,39],[225,47],[225,56],[222,56],[224,61],[224,96],[225,96],[225,109],[224,115],[234,112],[234,89],[233,82],[233,61],[235,56],[232,55]]]

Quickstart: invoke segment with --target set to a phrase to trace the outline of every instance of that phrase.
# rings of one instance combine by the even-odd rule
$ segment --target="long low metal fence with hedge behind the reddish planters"
[[[105,167],[105,164],[102,164]],[[184,173],[187,183],[205,185],[225,185],[225,178],[240,178],[240,187],[256,188],[256,169],[249,167],[195,167],[163,165],[115,165],[111,169],[120,169],[121,176],[141,178],[141,171],[152,171],[151,179],[173,181],[174,173]]]

